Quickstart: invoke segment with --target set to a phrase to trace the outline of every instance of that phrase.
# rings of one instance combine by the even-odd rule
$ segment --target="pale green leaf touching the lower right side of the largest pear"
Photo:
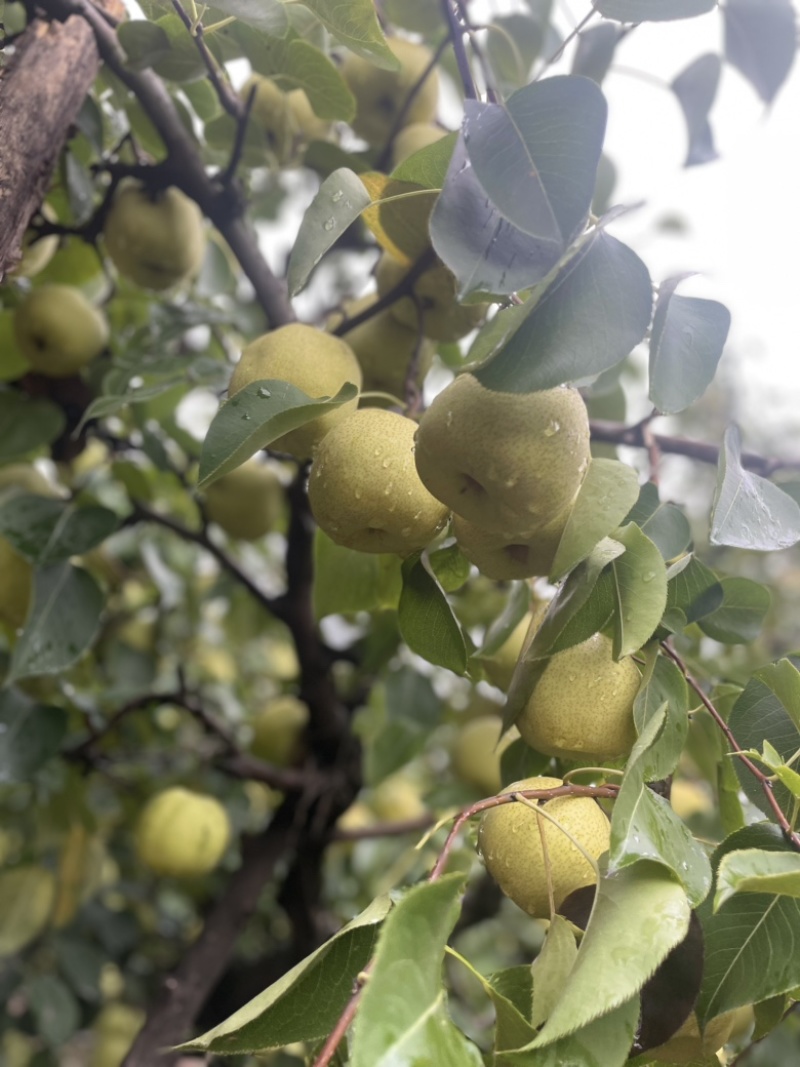
[[[615,529],[639,493],[636,471],[617,460],[594,459],[581,482],[561,535],[550,580],[572,571],[604,537]]]

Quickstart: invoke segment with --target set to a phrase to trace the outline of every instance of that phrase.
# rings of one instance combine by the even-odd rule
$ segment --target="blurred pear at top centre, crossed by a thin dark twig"
[[[429,123],[435,117],[438,103],[438,75],[434,68],[403,111],[410,93],[425,74],[433,54],[425,45],[403,37],[394,37],[386,43],[400,61],[399,70],[384,70],[352,53],[341,65],[341,76],[355,97],[353,130],[374,145],[385,143],[401,111],[403,126]]]

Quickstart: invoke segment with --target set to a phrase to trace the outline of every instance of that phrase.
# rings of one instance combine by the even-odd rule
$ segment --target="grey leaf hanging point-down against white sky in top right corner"
[[[730,0],[722,9],[725,59],[771,103],[797,51],[797,13],[790,0]]]

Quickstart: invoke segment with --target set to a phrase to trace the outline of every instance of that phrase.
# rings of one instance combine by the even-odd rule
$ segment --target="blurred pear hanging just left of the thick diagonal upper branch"
[[[194,277],[206,252],[201,210],[174,186],[151,193],[141,181],[121,182],[102,235],[123,277],[159,292]]]

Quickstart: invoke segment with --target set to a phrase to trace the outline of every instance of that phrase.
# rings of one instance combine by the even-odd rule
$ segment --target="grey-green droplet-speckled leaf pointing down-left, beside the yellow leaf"
[[[325,252],[370,203],[364,182],[348,168],[325,178],[303,216],[289,256],[290,296],[300,292]]]

